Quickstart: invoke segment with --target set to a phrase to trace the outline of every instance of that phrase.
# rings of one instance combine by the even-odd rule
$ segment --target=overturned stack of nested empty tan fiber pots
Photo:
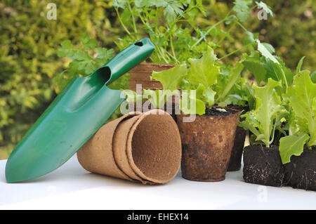
[[[93,173],[143,184],[167,183],[180,169],[178,126],[162,110],[125,114],[102,126],[77,157]]]

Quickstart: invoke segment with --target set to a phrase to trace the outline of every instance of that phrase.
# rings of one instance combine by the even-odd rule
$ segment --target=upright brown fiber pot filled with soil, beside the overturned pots
[[[223,107],[217,107],[223,108]],[[181,171],[183,178],[196,181],[225,180],[234,143],[240,112],[215,107],[196,115],[192,122],[184,122],[187,114],[178,114],[177,121],[182,142]]]

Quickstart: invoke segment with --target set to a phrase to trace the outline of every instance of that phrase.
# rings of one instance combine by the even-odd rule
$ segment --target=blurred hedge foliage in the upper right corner
[[[295,68],[305,56],[303,69],[316,70],[316,1],[265,0],[274,16],[268,20],[256,17],[246,22],[247,29],[259,33],[261,42],[275,47],[287,67]],[[294,72],[294,71],[293,71]]]

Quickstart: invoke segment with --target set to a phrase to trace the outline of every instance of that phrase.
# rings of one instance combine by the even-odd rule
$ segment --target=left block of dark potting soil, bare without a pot
[[[284,185],[284,167],[279,147],[249,145],[244,148],[244,181],[259,185]]]

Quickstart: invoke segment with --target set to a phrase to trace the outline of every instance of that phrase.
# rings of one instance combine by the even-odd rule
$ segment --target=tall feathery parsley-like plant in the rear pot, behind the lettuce
[[[246,36],[256,36],[257,34],[252,34],[242,25],[254,8],[261,6],[272,15],[270,8],[262,1],[253,4],[252,0],[236,0],[234,4],[223,19],[209,26],[196,22],[198,16],[206,16],[201,0],[115,0],[113,6],[127,34],[116,41],[116,44],[123,49],[140,37],[149,35],[156,46],[156,51],[150,58],[152,62],[179,64],[186,62],[188,58],[200,58],[208,47],[223,47],[225,39],[232,39],[230,32],[236,25],[239,27],[238,32],[242,30]],[[138,22],[143,26],[137,26]],[[220,59],[242,49],[252,48],[254,41],[247,39],[245,46]]]

